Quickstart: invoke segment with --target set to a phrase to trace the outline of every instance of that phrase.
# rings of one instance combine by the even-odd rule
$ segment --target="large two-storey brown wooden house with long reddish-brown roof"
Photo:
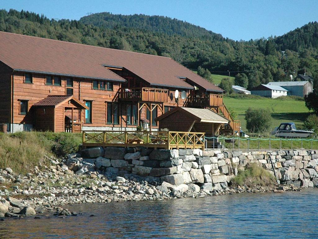
[[[158,130],[155,119],[176,106],[210,108],[229,120],[221,131],[239,131],[224,91],[171,58],[5,32],[0,46],[0,123],[10,132]]]

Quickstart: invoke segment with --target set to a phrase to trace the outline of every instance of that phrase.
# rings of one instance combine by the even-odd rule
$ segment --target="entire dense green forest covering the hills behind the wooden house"
[[[249,88],[288,80],[290,75],[304,73],[305,68],[318,79],[317,28],[318,23],[313,22],[281,37],[234,41],[158,16],[98,13],[79,21],[57,21],[28,11],[0,10],[0,31],[167,56],[190,69],[240,74]],[[198,72],[207,73],[201,68]]]

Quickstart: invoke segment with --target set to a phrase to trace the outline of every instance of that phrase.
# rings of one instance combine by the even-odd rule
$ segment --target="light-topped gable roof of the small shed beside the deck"
[[[171,111],[168,111],[162,114],[161,116],[157,117],[155,120],[156,121],[162,120],[178,110],[183,110],[185,112],[192,114],[194,117],[196,117],[197,122],[201,122],[201,123],[227,124],[229,122],[229,120],[227,120],[225,117],[219,115],[218,113],[210,109],[198,109],[198,108],[188,108],[188,107],[179,107],[179,106],[177,106]],[[180,119],[180,121],[182,121],[182,119]]]

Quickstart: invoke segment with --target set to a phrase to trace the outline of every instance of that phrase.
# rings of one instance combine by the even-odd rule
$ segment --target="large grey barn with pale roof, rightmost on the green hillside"
[[[287,95],[295,95],[304,97],[308,93],[313,91],[313,85],[309,81],[281,81],[281,82],[269,82],[268,85],[281,86],[288,90]]]

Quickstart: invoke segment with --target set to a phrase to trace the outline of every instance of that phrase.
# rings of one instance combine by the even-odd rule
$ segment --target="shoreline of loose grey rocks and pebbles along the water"
[[[294,185],[226,187],[212,191],[196,184],[179,186],[126,174],[124,177],[100,170],[75,174],[66,160],[50,158],[49,166],[35,167],[33,173],[15,174],[10,168],[0,169],[0,218],[76,215],[66,209],[69,204],[110,203],[121,201],[197,198],[212,195],[256,192],[301,191]],[[63,206],[63,207],[62,207]],[[64,208],[64,209],[63,209]]]

